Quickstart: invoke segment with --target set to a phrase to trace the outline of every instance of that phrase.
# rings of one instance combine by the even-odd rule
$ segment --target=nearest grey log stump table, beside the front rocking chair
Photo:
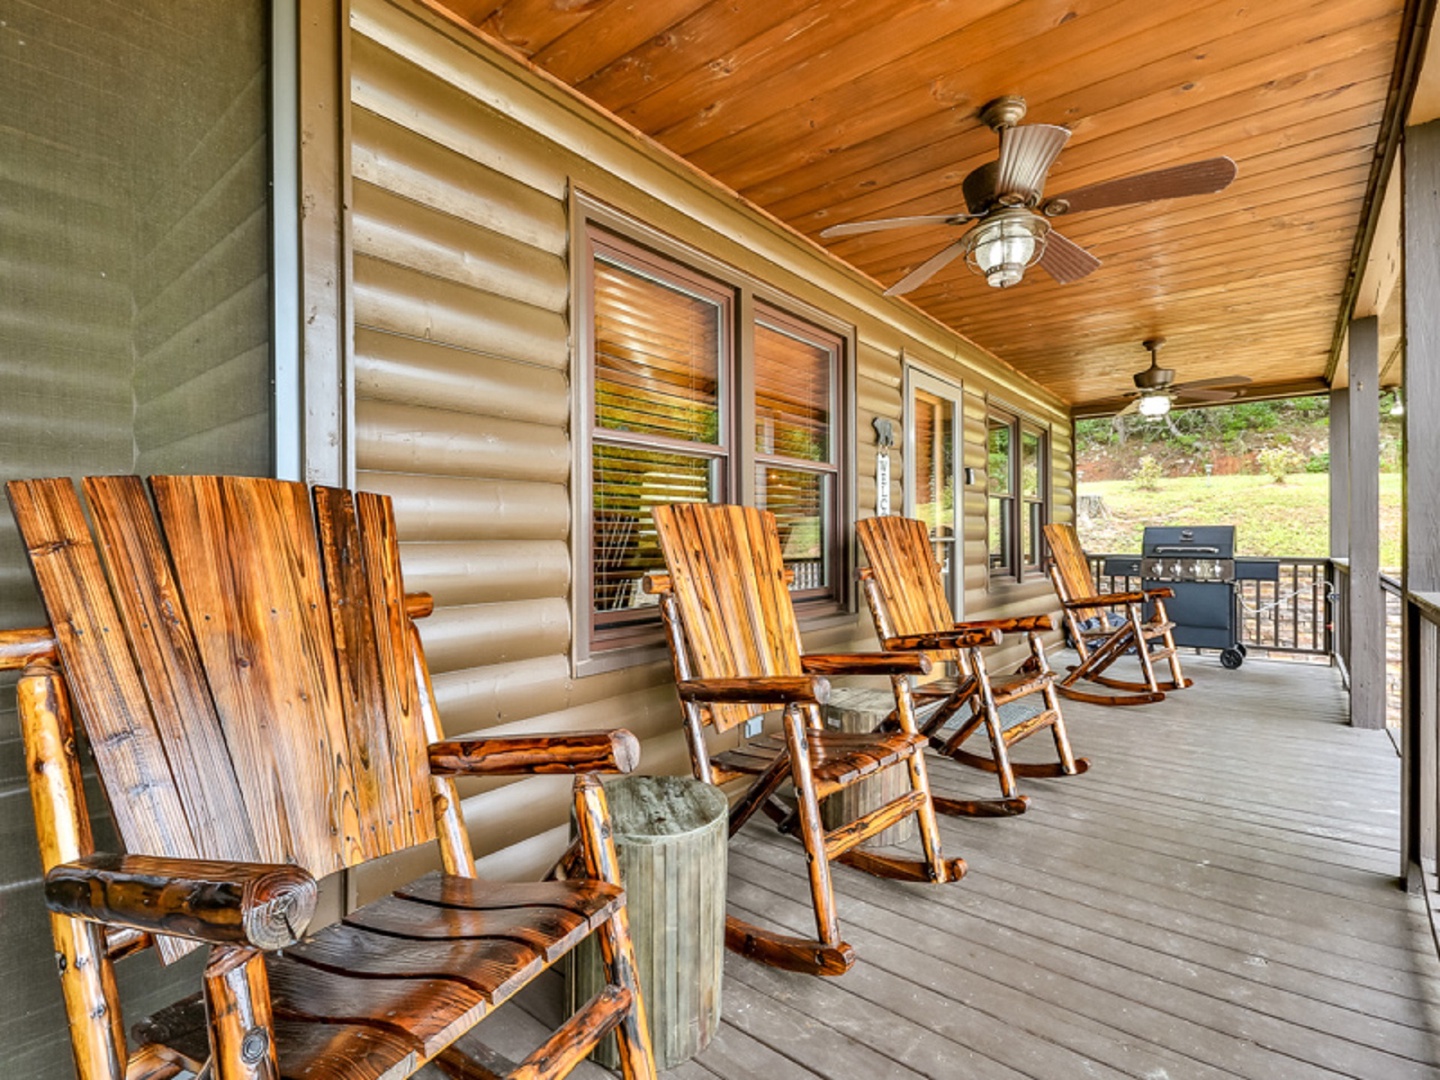
[[[672,1068],[720,1028],[730,805],[719,788],[684,776],[626,776],[605,795],[655,1066]],[[570,1001],[602,985],[599,948],[586,939],[570,965]],[[616,1068],[615,1037],[592,1057]]]

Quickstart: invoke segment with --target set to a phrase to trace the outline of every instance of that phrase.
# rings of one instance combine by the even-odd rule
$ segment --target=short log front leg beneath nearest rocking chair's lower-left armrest
[[[265,955],[220,946],[204,968],[215,1080],[279,1080]]]

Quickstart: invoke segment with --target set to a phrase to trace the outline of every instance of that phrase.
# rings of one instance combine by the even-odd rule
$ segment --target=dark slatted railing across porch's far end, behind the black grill
[[[1140,588],[1138,575],[1107,575],[1106,562],[1138,563],[1135,554],[1093,554],[1090,572],[1100,592],[1129,592]],[[1247,562],[1244,557],[1237,563]],[[1274,560],[1266,560],[1274,562]],[[1273,582],[1236,582],[1237,629],[1246,648],[1267,652],[1326,657],[1335,651],[1329,598],[1336,593],[1329,559],[1280,559]]]

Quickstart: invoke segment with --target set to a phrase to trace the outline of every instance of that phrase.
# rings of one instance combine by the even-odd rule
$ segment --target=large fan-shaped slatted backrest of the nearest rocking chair
[[[9,485],[131,854],[323,876],[435,837],[389,501],[261,478]],[[396,647],[395,642],[403,642]]]

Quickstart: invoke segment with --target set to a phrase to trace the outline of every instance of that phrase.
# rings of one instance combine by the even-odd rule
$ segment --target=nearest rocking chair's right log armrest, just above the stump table
[[[431,743],[436,776],[631,772],[639,740],[624,727],[566,734],[471,736]]]

